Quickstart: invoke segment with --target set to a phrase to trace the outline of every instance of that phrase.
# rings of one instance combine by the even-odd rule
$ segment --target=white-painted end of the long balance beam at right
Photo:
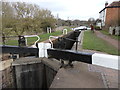
[[[92,64],[118,70],[118,58],[116,55],[95,53],[92,55]]]

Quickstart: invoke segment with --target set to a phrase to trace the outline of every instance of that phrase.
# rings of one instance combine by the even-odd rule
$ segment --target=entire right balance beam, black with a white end
[[[99,65],[106,68],[118,70],[119,56],[86,53],[72,50],[47,49],[49,57],[71,61],[81,61],[89,64]]]

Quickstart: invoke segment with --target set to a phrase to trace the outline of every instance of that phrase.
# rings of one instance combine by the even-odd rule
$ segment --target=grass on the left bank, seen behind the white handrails
[[[67,29],[68,29],[68,32],[71,31],[70,28],[67,28]],[[41,34],[41,35],[39,35],[40,42],[47,40],[49,38],[49,36],[51,36],[51,35],[52,36],[62,35],[62,31],[59,30],[59,31],[55,31],[55,32],[52,32],[52,33]],[[27,44],[28,45],[33,45],[36,40],[37,40],[37,37],[29,37],[29,38],[27,38],[27,42],[28,42]],[[9,40],[9,41],[6,42],[6,45],[18,45],[18,41],[17,40]]]

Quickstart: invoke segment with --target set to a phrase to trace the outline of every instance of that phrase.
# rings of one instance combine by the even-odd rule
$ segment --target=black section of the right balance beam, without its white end
[[[49,58],[63,59],[67,61],[81,61],[92,64],[94,53],[78,52],[73,50],[47,49]]]

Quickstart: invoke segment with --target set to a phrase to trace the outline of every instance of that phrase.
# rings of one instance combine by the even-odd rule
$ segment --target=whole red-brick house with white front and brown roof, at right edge
[[[101,27],[109,28],[120,26],[120,1],[114,1],[108,5],[105,3],[105,8],[100,12]]]

